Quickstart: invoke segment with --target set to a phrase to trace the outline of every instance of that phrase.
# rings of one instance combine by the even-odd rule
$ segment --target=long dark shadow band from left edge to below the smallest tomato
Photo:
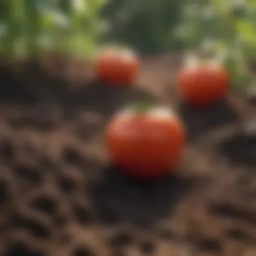
[[[110,85],[95,80],[82,82],[77,87],[75,82],[67,82],[36,63],[28,63],[20,73],[1,66],[0,83],[0,104],[29,106],[34,112],[43,113],[39,117],[57,107],[68,119],[83,110],[108,117],[141,98],[155,100],[150,93],[134,85]]]

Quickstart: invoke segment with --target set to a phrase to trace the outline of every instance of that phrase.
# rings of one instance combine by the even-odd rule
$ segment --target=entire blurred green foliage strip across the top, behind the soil
[[[1,0],[0,51],[90,57],[104,44],[142,55],[218,52],[241,84],[256,57],[255,0]],[[234,71],[236,70],[236,71]]]

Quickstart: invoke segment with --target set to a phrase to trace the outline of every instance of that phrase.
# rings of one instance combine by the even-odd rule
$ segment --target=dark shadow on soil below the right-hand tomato
[[[224,99],[207,108],[182,104],[179,113],[185,122],[191,141],[220,125],[226,125],[238,119],[235,110]]]

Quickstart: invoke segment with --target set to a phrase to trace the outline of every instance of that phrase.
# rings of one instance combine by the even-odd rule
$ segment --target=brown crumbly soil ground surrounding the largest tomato
[[[179,65],[143,58],[131,88],[82,61],[0,67],[0,255],[256,254],[256,108],[236,91],[183,104]],[[188,133],[179,168],[154,182],[125,177],[103,143],[110,117],[145,96]]]

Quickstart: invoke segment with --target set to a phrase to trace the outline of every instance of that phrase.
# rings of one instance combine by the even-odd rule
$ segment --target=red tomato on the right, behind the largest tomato
[[[183,100],[209,105],[228,91],[228,71],[217,63],[185,65],[178,73],[177,87]]]

